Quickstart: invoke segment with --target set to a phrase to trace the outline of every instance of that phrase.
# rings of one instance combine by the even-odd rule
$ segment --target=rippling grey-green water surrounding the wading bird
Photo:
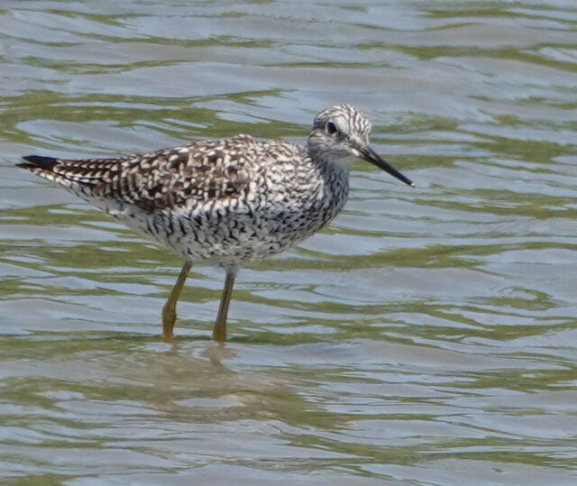
[[[577,482],[577,5],[0,3],[0,481]],[[180,261],[14,163],[370,115],[324,233]]]

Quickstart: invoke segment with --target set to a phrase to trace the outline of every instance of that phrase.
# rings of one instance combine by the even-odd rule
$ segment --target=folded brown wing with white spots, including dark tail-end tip
[[[254,160],[270,158],[252,137],[192,145],[118,159],[66,160],[31,155],[25,169],[88,197],[162,209],[240,197],[255,173]]]

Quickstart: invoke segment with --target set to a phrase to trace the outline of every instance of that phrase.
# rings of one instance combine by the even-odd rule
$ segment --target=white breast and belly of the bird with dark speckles
[[[291,174],[292,177],[297,177]],[[144,213],[106,201],[107,213],[179,252],[191,262],[244,266],[283,252],[327,225],[346,202],[344,173],[256,180],[243,197]],[[100,206],[100,205],[99,205]]]

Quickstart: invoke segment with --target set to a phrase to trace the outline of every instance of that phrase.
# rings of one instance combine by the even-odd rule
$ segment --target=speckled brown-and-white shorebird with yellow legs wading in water
[[[353,161],[413,182],[369,144],[371,123],[353,105],[319,112],[305,145],[240,134],[118,158],[24,156],[17,164],[177,252],[184,263],[162,307],[173,339],[176,307],[193,264],[224,269],[213,338],[224,343],[237,272],[316,234],[343,208]]]

